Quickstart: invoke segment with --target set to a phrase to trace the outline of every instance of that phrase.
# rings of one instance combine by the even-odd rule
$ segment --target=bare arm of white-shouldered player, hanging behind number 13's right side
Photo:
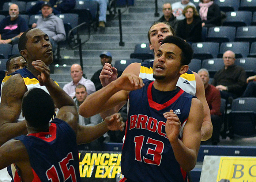
[[[209,138],[211,138],[212,135],[211,113],[205,98],[204,85],[202,79],[196,72],[193,73],[196,78],[196,97],[203,103],[204,110],[204,119],[201,128],[201,141],[206,141]]]

